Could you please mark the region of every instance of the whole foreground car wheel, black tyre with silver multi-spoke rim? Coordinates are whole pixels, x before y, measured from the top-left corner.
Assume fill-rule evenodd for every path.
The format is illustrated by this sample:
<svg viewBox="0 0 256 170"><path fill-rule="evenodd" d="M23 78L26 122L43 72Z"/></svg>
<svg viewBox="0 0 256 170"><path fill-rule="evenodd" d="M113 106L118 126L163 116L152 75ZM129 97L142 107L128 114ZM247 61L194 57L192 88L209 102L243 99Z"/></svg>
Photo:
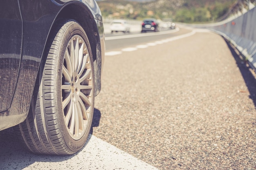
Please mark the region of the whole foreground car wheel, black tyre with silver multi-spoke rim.
<svg viewBox="0 0 256 170"><path fill-rule="evenodd" d="M94 69L88 37L78 22L60 22L38 73L29 113L18 125L34 153L72 155L88 139L94 110Z"/></svg>

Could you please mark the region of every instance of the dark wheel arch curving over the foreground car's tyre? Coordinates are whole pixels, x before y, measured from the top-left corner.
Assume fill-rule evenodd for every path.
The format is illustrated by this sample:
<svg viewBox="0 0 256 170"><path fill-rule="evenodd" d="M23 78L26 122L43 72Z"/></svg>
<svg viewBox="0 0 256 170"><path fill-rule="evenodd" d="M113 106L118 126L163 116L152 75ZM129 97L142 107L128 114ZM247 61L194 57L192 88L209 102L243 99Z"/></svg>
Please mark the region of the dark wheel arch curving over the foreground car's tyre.
<svg viewBox="0 0 256 170"><path fill-rule="evenodd" d="M101 49L101 34L99 34L99 32L103 32L103 27L100 27L102 30L98 30L97 22L95 21L91 11L87 7L81 5L80 2L67 4L63 9L61 9L61 11L57 14L54 23L52 24L49 35L51 35L51 32L55 29L55 24L58 24L60 20L76 20L83 27L88 37L90 47L92 50L94 76L96 80L95 93L97 95L101 90L101 51L105 50ZM49 41L51 41L51 36L48 36L47 38L45 49L47 48L47 44L49 44ZM44 62L45 57L42 58L41 64L44 65ZM40 73L40 71L38 73Z"/></svg>

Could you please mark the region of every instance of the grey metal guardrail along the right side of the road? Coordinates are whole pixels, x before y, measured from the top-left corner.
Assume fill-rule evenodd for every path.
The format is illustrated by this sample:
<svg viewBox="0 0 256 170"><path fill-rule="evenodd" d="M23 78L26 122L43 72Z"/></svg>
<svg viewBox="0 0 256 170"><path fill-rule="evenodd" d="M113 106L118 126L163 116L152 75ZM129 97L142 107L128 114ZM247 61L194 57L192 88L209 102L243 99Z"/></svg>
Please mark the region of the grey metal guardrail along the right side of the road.
<svg viewBox="0 0 256 170"><path fill-rule="evenodd" d="M227 22L222 21L206 28L216 31L229 40L256 71L256 8Z"/></svg>

